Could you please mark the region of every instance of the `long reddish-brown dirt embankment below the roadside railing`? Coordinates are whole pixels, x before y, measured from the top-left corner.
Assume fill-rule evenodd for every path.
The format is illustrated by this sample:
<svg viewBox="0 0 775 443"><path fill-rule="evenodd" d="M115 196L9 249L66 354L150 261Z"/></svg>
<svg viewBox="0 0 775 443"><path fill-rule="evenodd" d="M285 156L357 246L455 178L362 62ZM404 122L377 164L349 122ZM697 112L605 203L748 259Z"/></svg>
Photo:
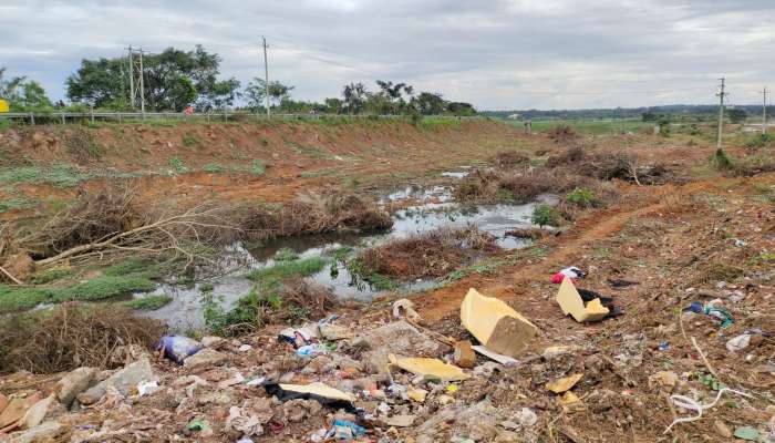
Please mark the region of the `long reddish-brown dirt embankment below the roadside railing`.
<svg viewBox="0 0 775 443"><path fill-rule="evenodd" d="M132 181L149 202L283 202L302 189L388 186L482 162L515 140L486 120L8 130L0 199L29 203L7 208L8 218Z"/></svg>

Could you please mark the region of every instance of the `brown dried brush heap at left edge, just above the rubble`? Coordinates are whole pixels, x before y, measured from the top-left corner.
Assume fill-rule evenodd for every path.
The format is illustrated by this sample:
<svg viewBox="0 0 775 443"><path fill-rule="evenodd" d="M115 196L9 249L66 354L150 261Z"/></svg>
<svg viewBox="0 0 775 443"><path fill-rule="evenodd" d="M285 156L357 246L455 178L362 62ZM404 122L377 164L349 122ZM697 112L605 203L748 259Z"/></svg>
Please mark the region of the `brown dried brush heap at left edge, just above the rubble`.
<svg viewBox="0 0 775 443"><path fill-rule="evenodd" d="M63 303L50 311L0 321L0 371L70 371L83 365L112 369L120 347L152 349L164 327L118 306Z"/></svg>

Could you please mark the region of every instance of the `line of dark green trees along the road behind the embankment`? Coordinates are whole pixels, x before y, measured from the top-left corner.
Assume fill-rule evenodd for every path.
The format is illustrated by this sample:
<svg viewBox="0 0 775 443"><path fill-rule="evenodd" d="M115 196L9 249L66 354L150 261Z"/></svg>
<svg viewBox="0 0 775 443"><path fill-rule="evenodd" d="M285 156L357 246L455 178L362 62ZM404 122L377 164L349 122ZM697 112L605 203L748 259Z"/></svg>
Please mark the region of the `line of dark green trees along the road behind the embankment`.
<svg viewBox="0 0 775 443"><path fill-rule="evenodd" d="M294 100L294 86L278 81L254 79L245 87L235 78L220 79L221 58L202 45L193 51L168 48L144 55L144 99L148 111L180 112L193 106L198 112L246 109L266 112L266 96L273 112L327 114L474 115L469 103L451 102L435 92L417 92L412 85L376 81L370 91L363 83L342 87L341 96L322 102ZM131 111L130 65L126 58L82 60L65 80L70 105L52 103L40 83L27 78L7 78L0 69L0 99L12 112L49 111L55 107L93 106L106 111ZM137 85L135 85L137 86Z"/></svg>

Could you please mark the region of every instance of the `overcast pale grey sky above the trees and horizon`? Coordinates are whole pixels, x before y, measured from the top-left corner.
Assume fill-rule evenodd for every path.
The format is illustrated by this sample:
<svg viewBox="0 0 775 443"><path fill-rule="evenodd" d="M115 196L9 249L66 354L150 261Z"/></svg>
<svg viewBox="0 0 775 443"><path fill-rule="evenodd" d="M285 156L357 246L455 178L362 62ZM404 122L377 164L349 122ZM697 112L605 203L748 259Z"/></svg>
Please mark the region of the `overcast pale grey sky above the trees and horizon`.
<svg viewBox="0 0 775 443"><path fill-rule="evenodd" d="M731 104L775 91L773 0L0 0L0 66L55 100L82 59L206 50L297 100L406 82L479 110Z"/></svg>

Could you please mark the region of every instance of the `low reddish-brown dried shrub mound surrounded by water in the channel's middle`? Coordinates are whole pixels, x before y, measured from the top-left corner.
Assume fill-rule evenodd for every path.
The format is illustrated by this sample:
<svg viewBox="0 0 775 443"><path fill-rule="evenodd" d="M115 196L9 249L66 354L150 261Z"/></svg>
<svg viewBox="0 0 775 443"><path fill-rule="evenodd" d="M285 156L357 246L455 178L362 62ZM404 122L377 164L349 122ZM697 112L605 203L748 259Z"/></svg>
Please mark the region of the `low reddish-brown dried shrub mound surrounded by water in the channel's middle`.
<svg viewBox="0 0 775 443"><path fill-rule="evenodd" d="M397 239L365 250L361 259L373 272L410 280L443 277L480 254L495 250L495 237L468 226Z"/></svg>

